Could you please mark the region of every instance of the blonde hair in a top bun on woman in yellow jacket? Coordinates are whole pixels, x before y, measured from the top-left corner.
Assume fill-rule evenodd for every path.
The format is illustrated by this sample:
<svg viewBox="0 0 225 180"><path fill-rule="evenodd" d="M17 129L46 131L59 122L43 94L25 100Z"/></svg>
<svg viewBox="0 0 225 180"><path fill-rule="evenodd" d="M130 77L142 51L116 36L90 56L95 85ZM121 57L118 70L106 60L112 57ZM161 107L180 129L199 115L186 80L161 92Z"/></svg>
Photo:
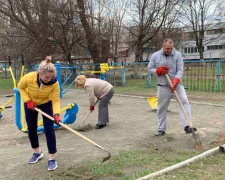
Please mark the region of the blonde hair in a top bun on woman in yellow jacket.
<svg viewBox="0 0 225 180"><path fill-rule="evenodd" d="M51 63L51 60L51 56L46 56L45 60L42 61L38 66L38 73L53 72L54 76L56 77L56 68L54 64Z"/></svg>

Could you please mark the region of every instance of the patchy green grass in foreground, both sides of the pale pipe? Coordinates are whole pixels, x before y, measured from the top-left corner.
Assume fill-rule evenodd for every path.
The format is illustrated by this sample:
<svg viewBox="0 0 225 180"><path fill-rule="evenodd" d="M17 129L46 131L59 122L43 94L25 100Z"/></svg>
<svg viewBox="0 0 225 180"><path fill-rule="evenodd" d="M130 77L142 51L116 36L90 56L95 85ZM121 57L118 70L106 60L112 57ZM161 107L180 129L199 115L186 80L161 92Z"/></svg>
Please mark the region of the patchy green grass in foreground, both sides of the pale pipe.
<svg viewBox="0 0 225 180"><path fill-rule="evenodd" d="M163 152L162 152L163 151ZM99 159L84 162L82 166L58 169L49 179L135 180L139 177L172 166L193 156L196 151L178 150L131 150L113 155L102 163ZM224 179L224 154L216 154L194 164L189 164L157 179Z"/></svg>

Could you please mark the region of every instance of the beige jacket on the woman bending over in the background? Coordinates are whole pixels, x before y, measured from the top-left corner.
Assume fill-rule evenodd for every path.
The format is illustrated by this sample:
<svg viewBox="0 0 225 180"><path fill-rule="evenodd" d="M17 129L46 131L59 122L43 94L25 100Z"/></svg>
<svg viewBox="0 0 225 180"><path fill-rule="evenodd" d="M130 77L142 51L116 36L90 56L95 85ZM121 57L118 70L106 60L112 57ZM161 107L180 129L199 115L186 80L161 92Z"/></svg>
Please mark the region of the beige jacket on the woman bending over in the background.
<svg viewBox="0 0 225 180"><path fill-rule="evenodd" d="M95 105L95 97L102 98L112 87L113 86L107 81L96 78L86 78L84 88L88 91L90 106Z"/></svg>

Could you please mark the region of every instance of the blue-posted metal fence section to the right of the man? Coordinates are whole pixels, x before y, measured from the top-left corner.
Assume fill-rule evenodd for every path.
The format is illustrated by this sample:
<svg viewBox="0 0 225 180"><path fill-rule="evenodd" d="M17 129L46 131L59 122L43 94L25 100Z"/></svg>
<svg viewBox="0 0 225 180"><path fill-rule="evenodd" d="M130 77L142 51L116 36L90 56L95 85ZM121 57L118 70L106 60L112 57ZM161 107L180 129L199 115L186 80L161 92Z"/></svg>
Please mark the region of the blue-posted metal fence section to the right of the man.
<svg viewBox="0 0 225 180"><path fill-rule="evenodd" d="M185 61L182 82L193 91L225 92L225 61Z"/></svg>

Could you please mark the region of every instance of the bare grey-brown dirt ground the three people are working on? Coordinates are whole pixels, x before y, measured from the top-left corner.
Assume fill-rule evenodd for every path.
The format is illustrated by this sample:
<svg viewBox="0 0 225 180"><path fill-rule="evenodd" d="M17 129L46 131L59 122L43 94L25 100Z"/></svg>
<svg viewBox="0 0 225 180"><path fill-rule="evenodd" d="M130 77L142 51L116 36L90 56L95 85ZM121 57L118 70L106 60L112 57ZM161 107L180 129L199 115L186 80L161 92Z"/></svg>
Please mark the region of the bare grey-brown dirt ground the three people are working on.
<svg viewBox="0 0 225 180"><path fill-rule="evenodd" d="M7 101L1 97L1 102L4 100ZM80 127L88 113L87 93L69 90L61 99L61 107L73 102L78 105L79 111L75 123L69 126L76 129ZM12 105L13 108L2 112L3 117L0 119L0 179L45 179L46 173L49 173L45 136L39 133L44 158L37 164L28 164L33 151L27 134L16 127L14 103ZM193 125L198 128L204 146L202 151L208 149L212 142L217 141L218 136L224 131L224 108L224 106L206 105L201 102L192 103L191 101ZM98 114L96 107L85 122L91 124L93 129L80 133L109 150L112 156L124 150L149 147L193 150L194 141L191 135L186 135L183 131L175 101L171 102L169 109L171 112L168 113L167 134L174 138L173 141L154 136L157 130L157 115L156 111L151 110L146 98L118 94L114 95L109 104L109 125L101 130L94 129ZM58 129L56 136L58 168L80 165L87 160L100 161L107 155L68 130Z"/></svg>

